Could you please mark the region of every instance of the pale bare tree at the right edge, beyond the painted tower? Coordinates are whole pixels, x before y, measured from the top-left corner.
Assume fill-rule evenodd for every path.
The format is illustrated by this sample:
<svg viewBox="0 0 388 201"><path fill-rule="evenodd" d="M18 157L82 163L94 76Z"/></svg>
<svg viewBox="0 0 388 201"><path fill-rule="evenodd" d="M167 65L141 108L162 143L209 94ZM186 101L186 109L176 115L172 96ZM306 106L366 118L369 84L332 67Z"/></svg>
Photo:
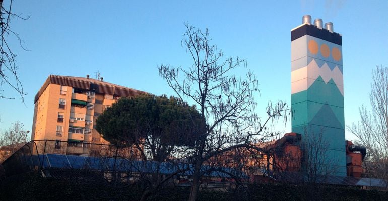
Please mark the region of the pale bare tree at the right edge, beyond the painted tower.
<svg viewBox="0 0 388 201"><path fill-rule="evenodd" d="M369 94L372 110L359 108L361 120L352 123L348 130L357 136L368 150L369 174L372 177L388 179L388 68L372 70Z"/></svg>

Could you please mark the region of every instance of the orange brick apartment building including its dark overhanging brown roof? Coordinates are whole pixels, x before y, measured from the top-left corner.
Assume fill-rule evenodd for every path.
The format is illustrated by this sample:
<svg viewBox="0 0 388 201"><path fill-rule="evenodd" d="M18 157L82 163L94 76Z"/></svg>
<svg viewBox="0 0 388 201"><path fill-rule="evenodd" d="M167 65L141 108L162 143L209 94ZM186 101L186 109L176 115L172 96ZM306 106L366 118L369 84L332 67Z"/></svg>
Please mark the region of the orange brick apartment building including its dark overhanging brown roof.
<svg viewBox="0 0 388 201"><path fill-rule="evenodd" d="M146 92L86 77L50 75L35 95L31 140L55 140L54 149L82 154L88 143L108 144L96 119L120 97ZM67 143L64 143L66 141ZM79 147L69 153L67 147ZM63 151L64 150L64 151Z"/></svg>

